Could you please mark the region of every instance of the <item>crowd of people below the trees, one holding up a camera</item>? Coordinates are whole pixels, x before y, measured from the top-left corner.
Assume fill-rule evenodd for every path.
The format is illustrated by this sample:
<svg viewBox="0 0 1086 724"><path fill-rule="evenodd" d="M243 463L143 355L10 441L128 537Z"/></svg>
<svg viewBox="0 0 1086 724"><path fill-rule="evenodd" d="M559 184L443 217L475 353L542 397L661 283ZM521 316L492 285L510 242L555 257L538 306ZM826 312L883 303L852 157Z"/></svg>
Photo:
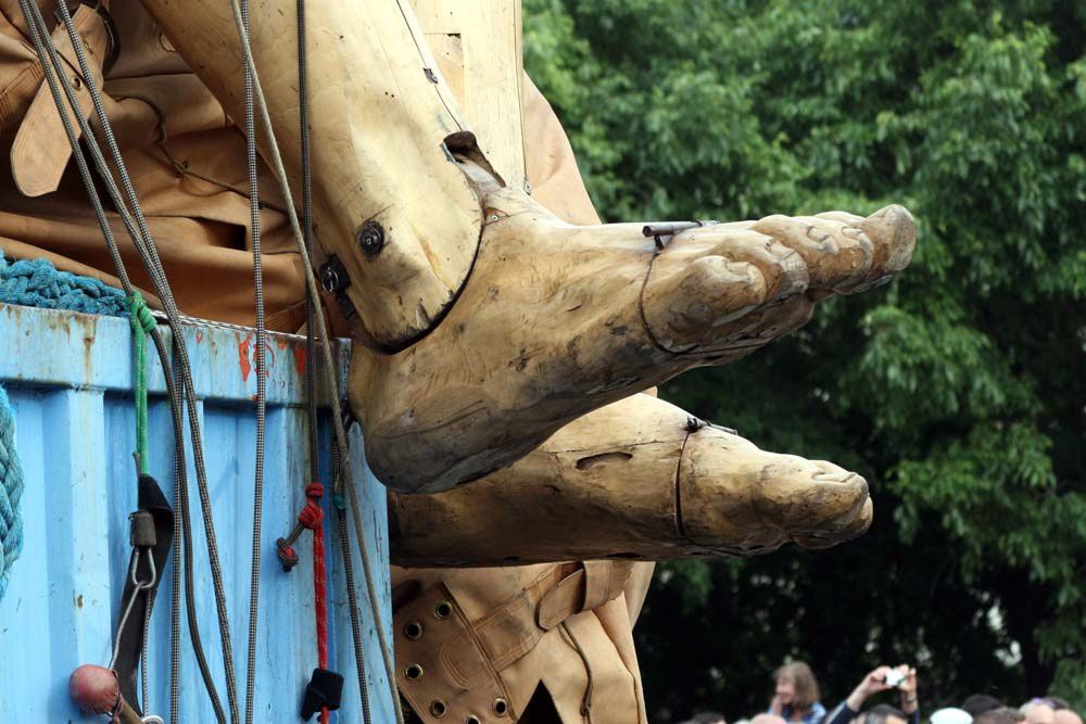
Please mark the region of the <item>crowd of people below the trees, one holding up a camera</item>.
<svg viewBox="0 0 1086 724"><path fill-rule="evenodd" d="M822 706L815 672L803 661L794 661L773 675L773 699L765 712L734 724L920 724L917 670L909 664L881 665L860 679L832 710ZM867 707L882 691L894 691L896 701ZM987 694L974 694L959 707L944 707L931 713L930 724L1083 724L1066 701L1056 697L1035 698L1020 707ZM681 724L728 724L723 714L702 712Z"/></svg>

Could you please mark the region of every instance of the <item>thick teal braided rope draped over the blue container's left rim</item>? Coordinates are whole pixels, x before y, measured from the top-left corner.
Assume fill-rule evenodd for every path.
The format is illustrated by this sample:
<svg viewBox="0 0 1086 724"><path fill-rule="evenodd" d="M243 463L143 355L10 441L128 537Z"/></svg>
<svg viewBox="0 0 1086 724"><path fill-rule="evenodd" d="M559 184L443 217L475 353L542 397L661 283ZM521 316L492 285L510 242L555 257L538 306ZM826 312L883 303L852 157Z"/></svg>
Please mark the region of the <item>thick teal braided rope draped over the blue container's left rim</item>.
<svg viewBox="0 0 1086 724"><path fill-rule="evenodd" d="M124 317L131 315L132 325L140 331L147 329L147 319L154 326L154 318L147 306L128 305L119 289L67 271L58 271L46 259L18 259L9 262L0 250L0 302L21 304L43 309L67 309L85 314ZM146 409L147 397L144 393ZM146 419L146 418L144 418ZM143 427L146 458L147 427ZM23 497L23 468L15 450L15 414L8 394L0 386L0 599L3 598L11 575L11 567L23 551L23 518L20 500Z"/></svg>

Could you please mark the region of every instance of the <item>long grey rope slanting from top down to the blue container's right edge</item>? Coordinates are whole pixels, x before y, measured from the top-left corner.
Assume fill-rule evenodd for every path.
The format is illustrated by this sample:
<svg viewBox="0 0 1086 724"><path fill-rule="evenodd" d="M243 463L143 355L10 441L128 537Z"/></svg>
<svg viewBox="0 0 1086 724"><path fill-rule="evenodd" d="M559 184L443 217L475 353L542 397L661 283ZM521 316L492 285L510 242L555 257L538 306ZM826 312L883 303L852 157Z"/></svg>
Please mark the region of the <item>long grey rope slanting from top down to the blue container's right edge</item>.
<svg viewBox="0 0 1086 724"><path fill-rule="evenodd" d="M244 23L241 17L241 9L238 7L237 0L232 0L230 3L233 8L233 23L238 28L238 35L241 37L241 49L244 56L245 65L250 67L250 72L253 74L253 88L254 94L256 97L256 107L261 115L261 125L264 128L265 136L268 141L268 150L272 153L272 166L275 170L276 177L279 181L279 188L281 189L283 199L290 200L293 196L290 193L290 183L287 180L287 169L282 163L282 155L279 153L279 144L275 140L275 130L272 127L272 118L268 115L267 103L264 98L264 91L261 88L260 74L256 72L256 65L253 62L252 48L249 42L249 34L245 33ZM291 203L287 204L287 216L290 219L290 227L294 233L294 242L298 246L298 253L302 257L302 268L305 270L305 289L306 293L310 295L313 305L319 308L320 297L317 292L317 280L313 276L313 263L310 258L310 253L305 249L305 241L302 236L301 227L298 223L298 214L294 212L294 206ZM325 325L324 315L317 314L314 316L317 322L317 336L320 339L320 352L323 361L325 363L325 371L328 374L328 385L329 392L331 393L332 399L339 401L339 381L336 379L336 370L338 367L334 365L331 352L331 342L328 336L328 329ZM346 432L343 429L343 420L340 419L339 415L332 415L332 429L336 433L336 444L340 446L340 449L348 449L346 445ZM369 596L369 602L374 610L374 623L377 630L377 638L381 648L381 658L384 661L386 674L389 679L389 689L392 695L392 706L395 710L397 724L403 724L403 709L400 706L400 691L396 688L396 673L395 666L392 662L392 648L389 646L388 636L384 634L384 626L381 621L381 609L380 601L377 596L377 584L374 577L372 561L369 558L369 551L366 549L365 536L363 535L362 525L362 513L361 507L358 505L358 495L354 486L354 477L352 474L350 461L343 466L343 478L344 485L348 488L348 497L351 503L351 516L354 519L354 524L357 534L358 550L362 555L362 564L365 573L366 580L366 593Z"/></svg>

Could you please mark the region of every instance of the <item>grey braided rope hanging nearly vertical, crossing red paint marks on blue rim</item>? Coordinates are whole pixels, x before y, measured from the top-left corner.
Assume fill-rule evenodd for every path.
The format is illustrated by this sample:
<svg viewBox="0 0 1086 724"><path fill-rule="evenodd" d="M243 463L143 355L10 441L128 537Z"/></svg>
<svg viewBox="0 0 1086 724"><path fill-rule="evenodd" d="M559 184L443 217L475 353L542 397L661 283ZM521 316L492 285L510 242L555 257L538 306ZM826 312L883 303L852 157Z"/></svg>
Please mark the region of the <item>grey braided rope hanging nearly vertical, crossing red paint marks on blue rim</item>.
<svg viewBox="0 0 1086 724"><path fill-rule="evenodd" d="M249 2L241 0L242 21L249 30ZM264 270L261 261L261 200L257 188L256 123L253 118L253 76L245 66L245 165L249 172L249 212L253 246L253 291L256 304L256 463L253 477L253 555L249 583L249 646L245 656L245 724L253 722L256 704L256 633L261 598L261 522L264 513L264 437L267 420L267 331L264 312ZM316 479L314 479L316 480Z"/></svg>

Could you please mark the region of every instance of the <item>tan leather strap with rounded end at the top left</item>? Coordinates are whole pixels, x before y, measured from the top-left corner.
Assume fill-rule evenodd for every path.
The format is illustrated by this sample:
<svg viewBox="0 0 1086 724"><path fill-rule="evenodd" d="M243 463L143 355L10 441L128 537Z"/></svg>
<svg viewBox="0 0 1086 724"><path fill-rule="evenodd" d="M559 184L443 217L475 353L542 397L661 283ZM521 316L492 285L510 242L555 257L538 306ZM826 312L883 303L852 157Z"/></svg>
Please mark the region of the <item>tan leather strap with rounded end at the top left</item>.
<svg viewBox="0 0 1086 724"><path fill-rule="evenodd" d="M96 10L83 4L76 9L72 22L86 46L87 62L94 74L94 82L101 88L102 64L110 37L105 22ZM67 66L68 78L73 81L79 101L78 112L85 118L90 117L93 105L87 91L87 79L78 71L79 62L63 24L53 28L52 39ZM75 131L77 136L81 135L78 127ZM55 191L71 157L72 147L61 124L52 92L49 84L42 80L11 148L11 170L15 186L27 196L40 196Z"/></svg>

